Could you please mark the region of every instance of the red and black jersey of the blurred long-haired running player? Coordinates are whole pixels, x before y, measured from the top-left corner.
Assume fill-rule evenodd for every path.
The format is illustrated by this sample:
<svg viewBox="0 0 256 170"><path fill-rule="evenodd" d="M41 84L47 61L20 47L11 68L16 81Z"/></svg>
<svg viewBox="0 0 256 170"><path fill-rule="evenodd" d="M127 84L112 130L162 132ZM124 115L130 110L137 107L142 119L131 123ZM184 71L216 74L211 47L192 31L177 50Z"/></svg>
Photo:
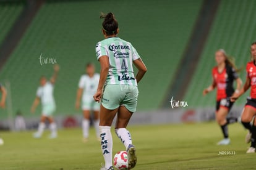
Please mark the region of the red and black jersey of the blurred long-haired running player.
<svg viewBox="0 0 256 170"><path fill-rule="evenodd" d="M234 93L233 82L238 78L238 75L233 67L226 65L224 70L219 73L218 67L214 67L212 70L213 81L217 86L217 101L231 97Z"/></svg>

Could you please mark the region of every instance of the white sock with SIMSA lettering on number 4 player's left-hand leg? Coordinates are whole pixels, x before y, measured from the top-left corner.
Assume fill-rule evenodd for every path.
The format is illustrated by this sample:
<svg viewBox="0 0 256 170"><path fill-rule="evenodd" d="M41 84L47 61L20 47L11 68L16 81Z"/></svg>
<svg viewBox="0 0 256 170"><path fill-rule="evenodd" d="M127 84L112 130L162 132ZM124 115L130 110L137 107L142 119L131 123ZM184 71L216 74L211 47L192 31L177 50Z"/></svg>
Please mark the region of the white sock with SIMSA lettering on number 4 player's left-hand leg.
<svg viewBox="0 0 256 170"><path fill-rule="evenodd" d="M101 150L105 160L105 168L109 168L112 165L112 148L113 141L111 135L111 126L99 126L100 129L100 140Z"/></svg>

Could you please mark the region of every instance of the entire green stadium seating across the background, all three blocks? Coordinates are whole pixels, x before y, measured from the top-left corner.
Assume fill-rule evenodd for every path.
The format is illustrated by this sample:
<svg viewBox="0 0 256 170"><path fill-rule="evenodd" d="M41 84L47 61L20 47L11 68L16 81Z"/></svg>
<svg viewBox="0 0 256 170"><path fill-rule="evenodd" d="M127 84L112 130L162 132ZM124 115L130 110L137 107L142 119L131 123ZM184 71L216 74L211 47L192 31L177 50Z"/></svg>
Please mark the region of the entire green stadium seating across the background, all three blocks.
<svg viewBox="0 0 256 170"><path fill-rule="evenodd" d="M87 62L95 63L97 71L100 69L95 57L95 44L103 39L99 15L109 11L119 21L119 37L132 42L148 67L139 84L138 110L158 110L170 83L175 81L174 73L202 3L202 0L45 1L0 72L0 81L11 84L12 111L21 110L30 116L40 76L51 77L53 65L41 65L41 55L48 62L50 58L56 59L61 66L54 92L56 114L80 113L74 108L77 84ZM192 81L182 100L187 101L189 108L215 106L216 91L202 97L202 90L211 84L217 49L226 50L238 68L245 68L256 33L254 6L256 2L252 0L220 1L195 74L187 75L192 76ZM23 1L0 2L0 44L23 9ZM245 69L239 74L245 81ZM245 98L246 95L236 105L244 105ZM7 110L0 113L0 118L7 117Z"/></svg>

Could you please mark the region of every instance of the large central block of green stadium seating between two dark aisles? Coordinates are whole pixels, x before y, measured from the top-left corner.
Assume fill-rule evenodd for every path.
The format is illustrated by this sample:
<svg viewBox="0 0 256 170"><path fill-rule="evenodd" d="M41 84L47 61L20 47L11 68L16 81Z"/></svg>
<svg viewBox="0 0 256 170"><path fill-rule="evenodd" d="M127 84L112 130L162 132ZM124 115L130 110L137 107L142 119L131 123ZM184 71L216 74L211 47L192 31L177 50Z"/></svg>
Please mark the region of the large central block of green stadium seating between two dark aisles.
<svg viewBox="0 0 256 170"><path fill-rule="evenodd" d="M132 42L148 67L139 84L138 110L158 109L201 4L201 0L46 1L0 73L1 81L11 83L14 112L21 110L25 116L30 115L40 76L49 78L53 72L53 65L40 65L41 54L56 59L61 66L55 89L57 114L79 112L74 103L85 63L95 63L99 71L95 44L103 39L101 11L114 12L119 36Z"/></svg>

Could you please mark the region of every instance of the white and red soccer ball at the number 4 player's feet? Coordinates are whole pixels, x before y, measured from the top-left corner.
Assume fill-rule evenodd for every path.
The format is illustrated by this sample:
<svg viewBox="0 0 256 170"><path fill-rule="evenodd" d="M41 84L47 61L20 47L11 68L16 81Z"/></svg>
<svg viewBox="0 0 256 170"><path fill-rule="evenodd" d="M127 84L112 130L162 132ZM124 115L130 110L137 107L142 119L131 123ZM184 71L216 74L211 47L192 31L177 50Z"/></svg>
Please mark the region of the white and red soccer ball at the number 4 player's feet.
<svg viewBox="0 0 256 170"><path fill-rule="evenodd" d="M114 167L120 170L128 169L128 157L126 151L120 151L114 155Z"/></svg>

